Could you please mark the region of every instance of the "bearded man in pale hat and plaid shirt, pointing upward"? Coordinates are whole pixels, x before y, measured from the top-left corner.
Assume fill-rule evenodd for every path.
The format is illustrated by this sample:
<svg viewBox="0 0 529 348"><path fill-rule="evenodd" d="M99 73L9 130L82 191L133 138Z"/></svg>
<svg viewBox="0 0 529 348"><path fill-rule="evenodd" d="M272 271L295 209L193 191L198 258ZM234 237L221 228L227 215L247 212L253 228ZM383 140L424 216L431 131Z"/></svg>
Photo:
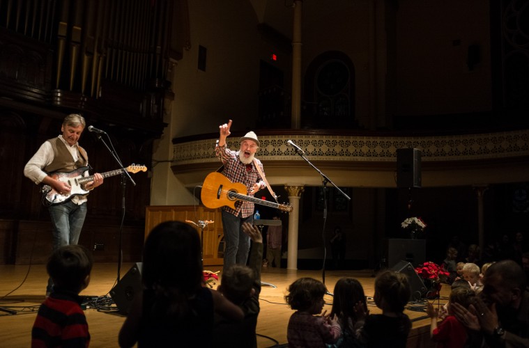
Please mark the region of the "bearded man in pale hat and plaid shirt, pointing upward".
<svg viewBox="0 0 529 348"><path fill-rule="evenodd" d="M256 165L263 171L263 164L254 155L259 148L259 140L254 132L248 132L240 138L240 149L232 151L227 148L226 138L231 134L231 120L220 125L220 136L215 155L224 164L224 174L231 182L240 182L247 187L247 196L254 196L257 191L266 188ZM242 193L242 192L240 192ZM250 251L250 237L245 235L243 223L253 223L254 203L238 200L236 209L222 207L222 228L224 228L224 269L231 264L246 264Z"/></svg>

